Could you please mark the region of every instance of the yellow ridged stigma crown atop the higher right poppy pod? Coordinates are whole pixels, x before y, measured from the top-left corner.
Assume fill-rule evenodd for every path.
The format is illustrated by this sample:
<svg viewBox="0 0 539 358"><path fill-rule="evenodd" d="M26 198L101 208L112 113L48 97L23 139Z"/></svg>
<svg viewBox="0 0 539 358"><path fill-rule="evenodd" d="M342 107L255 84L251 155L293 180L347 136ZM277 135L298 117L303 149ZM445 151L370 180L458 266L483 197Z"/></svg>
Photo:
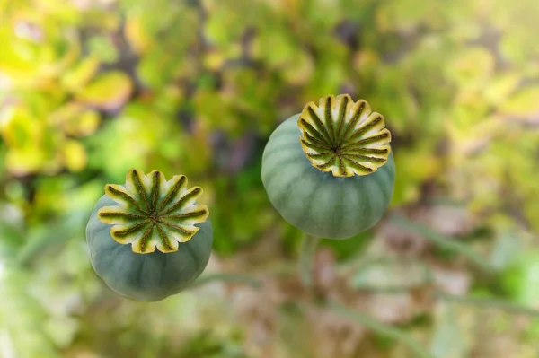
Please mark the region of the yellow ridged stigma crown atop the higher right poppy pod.
<svg viewBox="0 0 539 358"><path fill-rule="evenodd" d="M305 156L314 168L335 177L368 175L387 162L391 133L384 116L365 100L348 94L325 96L310 102L297 120Z"/></svg>

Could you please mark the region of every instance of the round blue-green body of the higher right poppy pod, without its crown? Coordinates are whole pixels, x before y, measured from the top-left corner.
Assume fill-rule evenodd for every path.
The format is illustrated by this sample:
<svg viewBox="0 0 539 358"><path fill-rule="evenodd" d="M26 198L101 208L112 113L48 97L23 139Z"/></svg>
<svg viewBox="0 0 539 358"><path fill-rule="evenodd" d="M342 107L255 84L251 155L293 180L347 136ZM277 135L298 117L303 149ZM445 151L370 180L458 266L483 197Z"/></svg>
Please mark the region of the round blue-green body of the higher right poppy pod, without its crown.
<svg viewBox="0 0 539 358"><path fill-rule="evenodd" d="M314 168L300 144L299 114L270 136L261 177L271 204L290 224L327 239L348 239L376 224L393 197L393 153L366 176L335 177Z"/></svg>

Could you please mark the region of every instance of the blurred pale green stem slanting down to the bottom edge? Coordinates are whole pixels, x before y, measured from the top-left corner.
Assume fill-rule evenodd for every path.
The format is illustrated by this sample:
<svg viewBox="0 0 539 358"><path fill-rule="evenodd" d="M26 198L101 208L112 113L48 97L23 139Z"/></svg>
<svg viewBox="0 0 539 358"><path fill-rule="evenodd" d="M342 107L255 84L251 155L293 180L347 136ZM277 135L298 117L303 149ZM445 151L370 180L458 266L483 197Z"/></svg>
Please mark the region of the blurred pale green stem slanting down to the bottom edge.
<svg viewBox="0 0 539 358"><path fill-rule="evenodd" d="M364 327L376 332L380 336L386 336L394 339L397 342L407 345L420 358L432 358L432 355L423 348L423 346L410 336L408 333L399 328L385 325L384 323L367 316L365 313L356 310L349 310L340 304L332 303L329 308L342 317L354 319Z"/></svg>

